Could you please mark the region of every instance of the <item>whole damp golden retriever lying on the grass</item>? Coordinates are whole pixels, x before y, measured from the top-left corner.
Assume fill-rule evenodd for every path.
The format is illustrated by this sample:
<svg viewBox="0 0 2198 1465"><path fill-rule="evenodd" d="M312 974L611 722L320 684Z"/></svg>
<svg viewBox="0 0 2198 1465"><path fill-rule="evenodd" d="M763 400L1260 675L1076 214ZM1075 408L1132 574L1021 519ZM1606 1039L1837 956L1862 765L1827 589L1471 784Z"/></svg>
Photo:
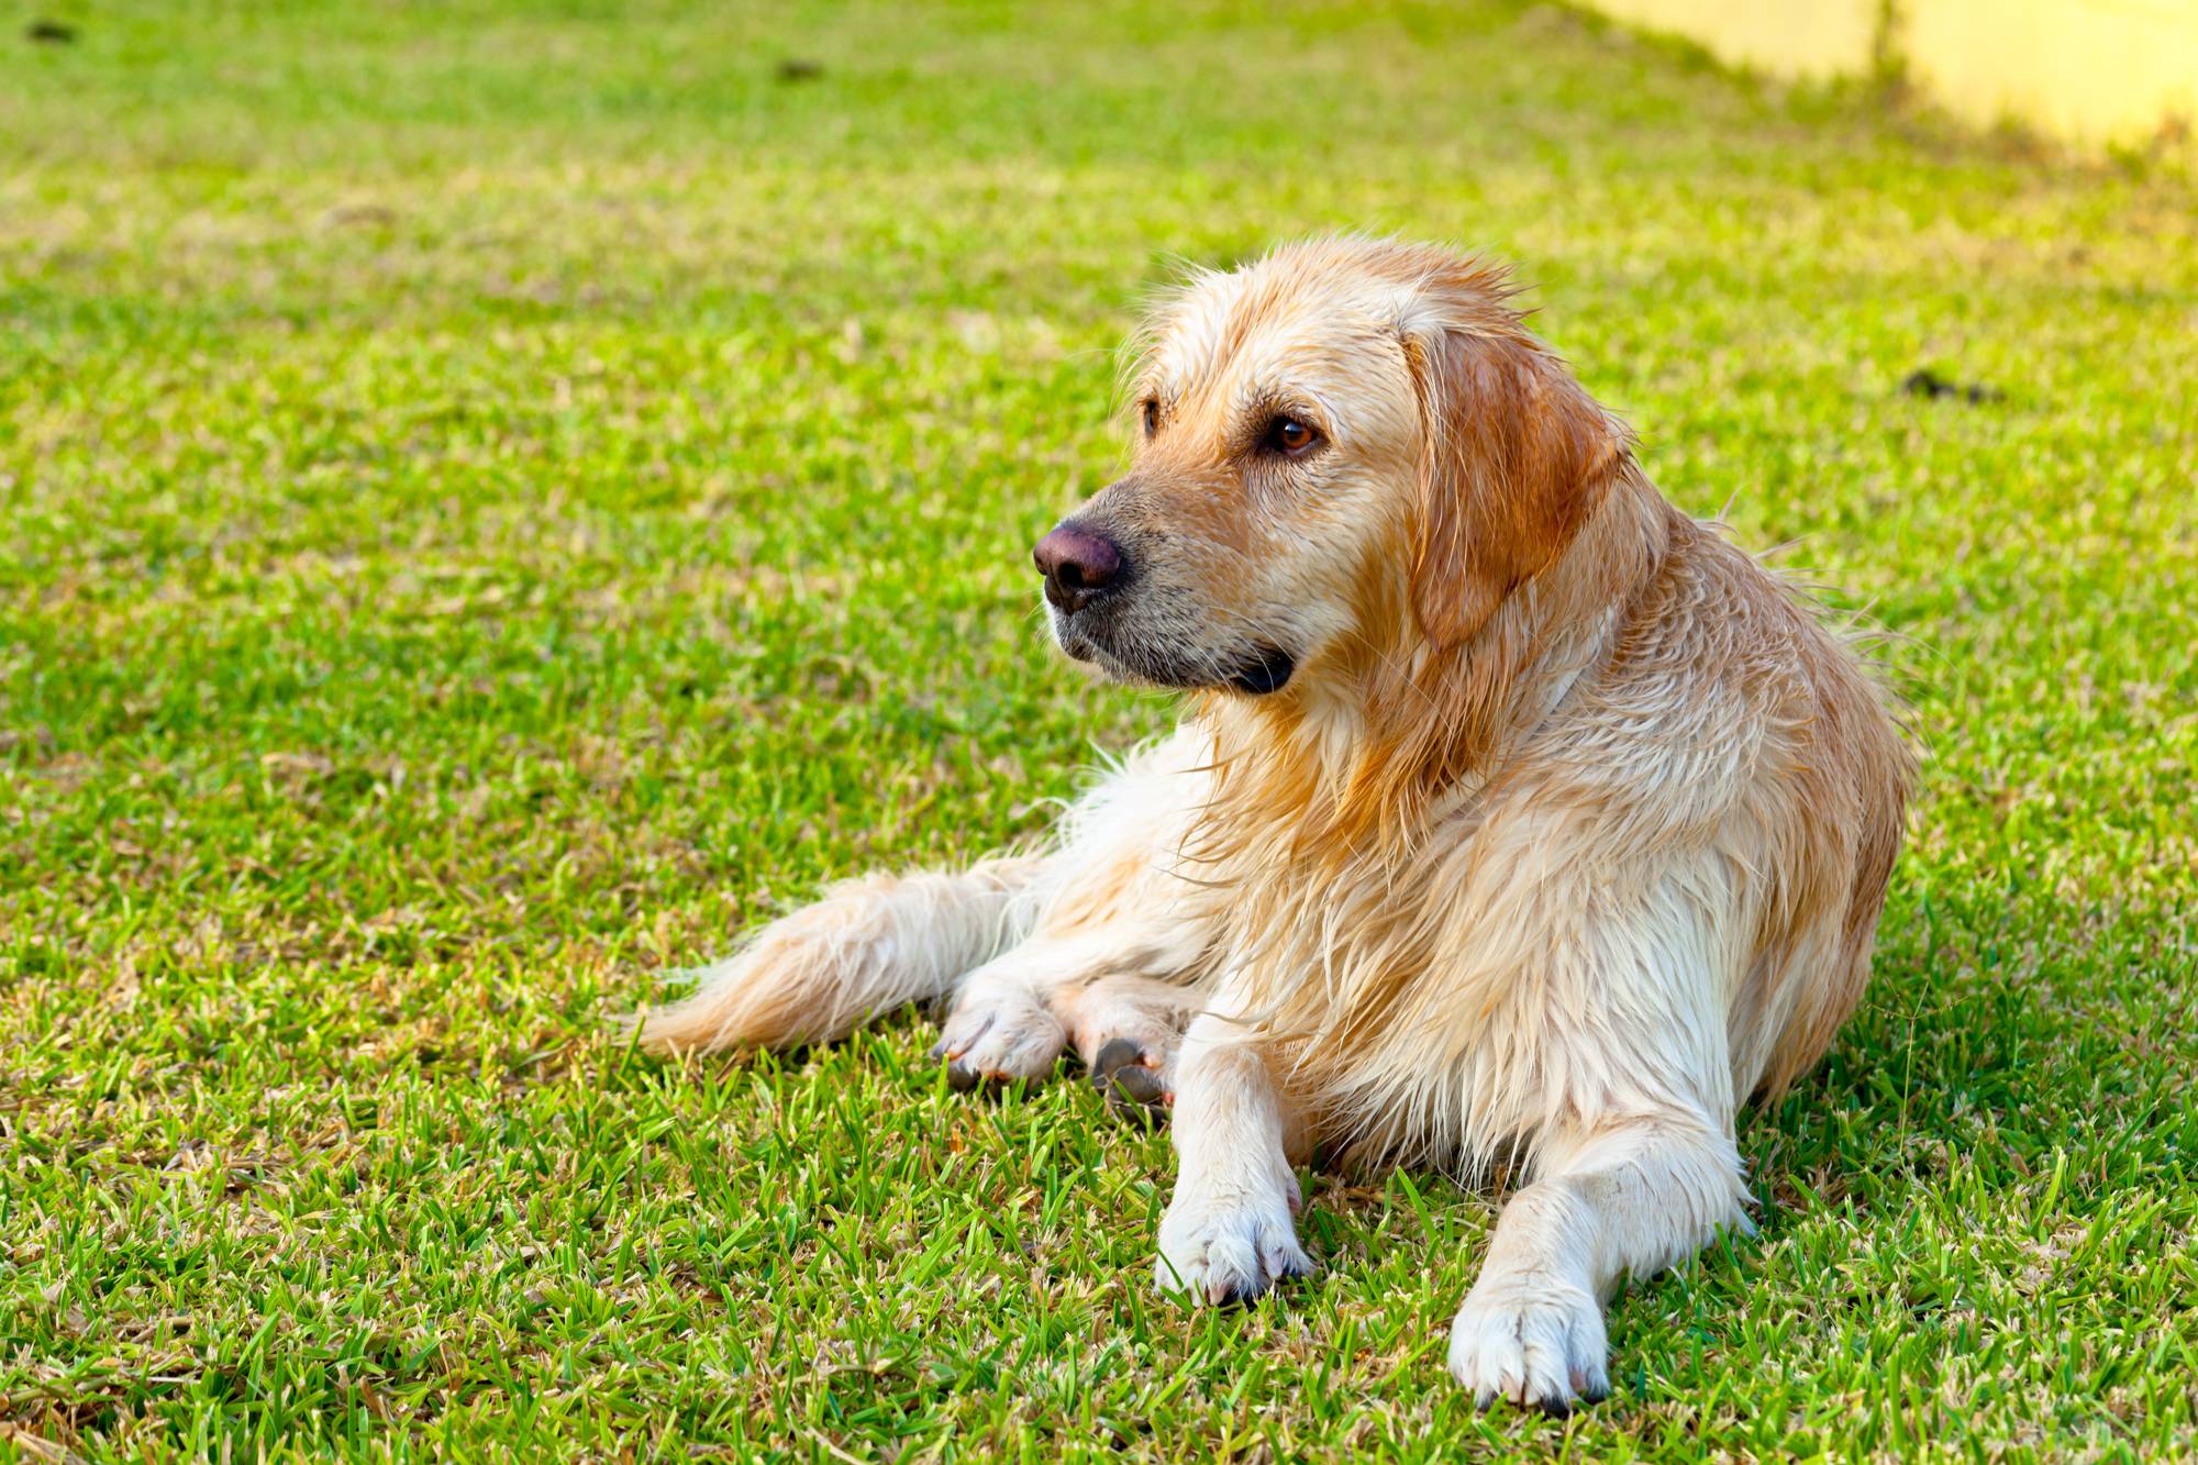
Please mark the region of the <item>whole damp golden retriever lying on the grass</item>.
<svg viewBox="0 0 2198 1465"><path fill-rule="evenodd" d="M1734 1115L1862 994L1912 781L1811 603L1681 515L1501 268L1391 240L1194 275L1130 473L1035 552L1059 649L1180 689L1037 851L870 875L642 1018L824 1043L950 999L954 1087L1073 1049L1161 1102L1156 1278L1312 1269L1297 1166L1497 1170L1481 1406L1609 1390L1602 1304L1752 1230Z"/></svg>

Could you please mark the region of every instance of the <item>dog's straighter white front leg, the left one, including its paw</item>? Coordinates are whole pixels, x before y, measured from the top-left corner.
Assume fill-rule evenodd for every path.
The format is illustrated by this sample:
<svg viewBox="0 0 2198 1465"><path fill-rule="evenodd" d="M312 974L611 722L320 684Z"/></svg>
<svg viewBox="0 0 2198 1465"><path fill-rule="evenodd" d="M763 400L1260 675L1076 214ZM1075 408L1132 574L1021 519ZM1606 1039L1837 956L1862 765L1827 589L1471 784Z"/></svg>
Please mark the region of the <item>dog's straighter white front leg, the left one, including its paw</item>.
<svg viewBox="0 0 2198 1465"><path fill-rule="evenodd" d="M1303 1122L1248 1029L1207 1012L1176 1056L1176 1194L1161 1219L1163 1291L1248 1302L1312 1271L1297 1245Z"/></svg>

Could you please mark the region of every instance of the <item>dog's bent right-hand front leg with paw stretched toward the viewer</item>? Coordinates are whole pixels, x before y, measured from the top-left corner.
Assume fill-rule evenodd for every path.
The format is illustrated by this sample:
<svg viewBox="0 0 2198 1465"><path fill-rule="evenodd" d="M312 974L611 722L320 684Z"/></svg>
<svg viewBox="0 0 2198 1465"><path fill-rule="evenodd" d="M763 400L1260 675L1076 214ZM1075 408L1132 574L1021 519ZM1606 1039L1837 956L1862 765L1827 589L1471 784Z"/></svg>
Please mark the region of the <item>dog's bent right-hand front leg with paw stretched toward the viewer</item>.
<svg viewBox="0 0 2198 1465"><path fill-rule="evenodd" d="M1451 1324L1451 1373L1488 1406L1563 1414L1609 1392L1602 1300L1745 1227L1730 1126L1695 1111L1613 1117L1545 1137L1539 1179L1497 1216Z"/></svg>

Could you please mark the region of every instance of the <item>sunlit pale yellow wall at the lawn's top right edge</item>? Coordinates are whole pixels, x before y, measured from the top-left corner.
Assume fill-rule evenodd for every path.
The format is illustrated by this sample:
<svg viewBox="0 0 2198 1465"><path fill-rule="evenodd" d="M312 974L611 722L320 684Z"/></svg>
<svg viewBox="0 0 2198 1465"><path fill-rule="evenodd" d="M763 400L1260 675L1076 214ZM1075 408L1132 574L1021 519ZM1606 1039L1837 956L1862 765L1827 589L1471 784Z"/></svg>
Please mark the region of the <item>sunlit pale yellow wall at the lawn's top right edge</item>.
<svg viewBox="0 0 2198 1465"><path fill-rule="evenodd" d="M1780 77L1908 66L1954 117L2013 119L2077 143L2141 143L2198 123L2198 0L1591 0L1721 62Z"/></svg>

